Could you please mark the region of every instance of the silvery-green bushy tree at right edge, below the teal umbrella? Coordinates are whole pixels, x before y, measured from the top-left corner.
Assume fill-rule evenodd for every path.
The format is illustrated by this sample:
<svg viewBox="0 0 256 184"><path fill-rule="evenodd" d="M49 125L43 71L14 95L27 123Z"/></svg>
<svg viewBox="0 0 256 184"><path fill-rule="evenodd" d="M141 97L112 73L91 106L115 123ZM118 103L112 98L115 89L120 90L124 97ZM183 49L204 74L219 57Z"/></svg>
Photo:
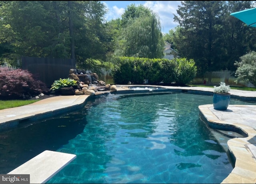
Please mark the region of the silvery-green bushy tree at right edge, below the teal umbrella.
<svg viewBox="0 0 256 184"><path fill-rule="evenodd" d="M240 61L235 61L237 67L235 82L251 82L256 86L256 52L252 51L240 57Z"/></svg>

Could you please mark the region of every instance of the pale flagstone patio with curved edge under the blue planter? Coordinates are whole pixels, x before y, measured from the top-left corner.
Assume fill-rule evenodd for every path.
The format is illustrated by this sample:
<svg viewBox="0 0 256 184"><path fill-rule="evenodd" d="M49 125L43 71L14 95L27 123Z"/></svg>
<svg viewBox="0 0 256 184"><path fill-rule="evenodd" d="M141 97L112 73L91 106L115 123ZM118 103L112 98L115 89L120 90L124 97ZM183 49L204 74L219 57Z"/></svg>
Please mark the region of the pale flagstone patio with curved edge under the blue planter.
<svg viewBox="0 0 256 184"><path fill-rule="evenodd" d="M206 104L198 106L200 112L204 115L208 123L232 126L234 128L243 130L248 136L244 138L232 138L228 140L228 152L233 157L235 164L232 172L226 177L222 184L248 184L256 183L256 130L252 126L256 126L251 122L252 126L249 126L248 122L243 122L244 119L250 121L255 120L256 114L243 113L243 110L253 108L256 110L256 105L229 105L227 110L218 111L213 109L213 104ZM244 108L244 109L243 109ZM238 109L242 112L238 112ZM231 112L231 114L230 114ZM218 116L219 115L219 116ZM240 118L237 118L240 116ZM244 115L244 116L243 116ZM232 117L233 116L233 117ZM224 120L229 118L231 120ZM233 119L233 121L232 121Z"/></svg>

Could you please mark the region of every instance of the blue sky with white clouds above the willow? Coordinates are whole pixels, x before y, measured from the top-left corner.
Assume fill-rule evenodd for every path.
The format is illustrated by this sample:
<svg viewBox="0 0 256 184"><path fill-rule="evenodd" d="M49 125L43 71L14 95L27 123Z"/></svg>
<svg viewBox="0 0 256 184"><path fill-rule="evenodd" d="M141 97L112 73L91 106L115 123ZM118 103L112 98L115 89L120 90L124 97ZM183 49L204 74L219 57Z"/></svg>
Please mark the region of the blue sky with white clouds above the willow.
<svg viewBox="0 0 256 184"><path fill-rule="evenodd" d="M124 13L126 6L130 4L142 4L150 8L153 12L157 13L161 26L162 32L168 33L169 30L178 26L177 22L174 22L173 14L177 14L178 5L181 5L181 1L101 1L106 5L108 13L105 15L106 20L121 18Z"/></svg>

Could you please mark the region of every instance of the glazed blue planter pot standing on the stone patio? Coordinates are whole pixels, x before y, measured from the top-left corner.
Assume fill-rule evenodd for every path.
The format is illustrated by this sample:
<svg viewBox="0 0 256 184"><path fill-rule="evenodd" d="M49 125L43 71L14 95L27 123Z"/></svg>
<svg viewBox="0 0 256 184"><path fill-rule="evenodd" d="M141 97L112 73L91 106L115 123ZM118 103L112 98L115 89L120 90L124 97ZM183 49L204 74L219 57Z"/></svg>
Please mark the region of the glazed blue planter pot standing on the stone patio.
<svg viewBox="0 0 256 184"><path fill-rule="evenodd" d="M214 93L213 94L213 108L215 110L226 110L230 102L230 93Z"/></svg>

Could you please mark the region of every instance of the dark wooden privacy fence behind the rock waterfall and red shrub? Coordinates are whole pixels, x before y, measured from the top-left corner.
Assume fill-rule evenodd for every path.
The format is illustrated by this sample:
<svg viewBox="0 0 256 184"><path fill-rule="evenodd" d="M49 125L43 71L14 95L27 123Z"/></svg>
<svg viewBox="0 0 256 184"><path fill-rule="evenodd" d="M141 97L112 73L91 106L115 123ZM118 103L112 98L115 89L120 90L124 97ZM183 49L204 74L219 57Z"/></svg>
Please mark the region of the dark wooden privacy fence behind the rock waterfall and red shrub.
<svg viewBox="0 0 256 184"><path fill-rule="evenodd" d="M21 60L22 69L34 74L47 87L51 87L54 80L67 78L69 70L76 68L76 63L72 59L22 57Z"/></svg>

